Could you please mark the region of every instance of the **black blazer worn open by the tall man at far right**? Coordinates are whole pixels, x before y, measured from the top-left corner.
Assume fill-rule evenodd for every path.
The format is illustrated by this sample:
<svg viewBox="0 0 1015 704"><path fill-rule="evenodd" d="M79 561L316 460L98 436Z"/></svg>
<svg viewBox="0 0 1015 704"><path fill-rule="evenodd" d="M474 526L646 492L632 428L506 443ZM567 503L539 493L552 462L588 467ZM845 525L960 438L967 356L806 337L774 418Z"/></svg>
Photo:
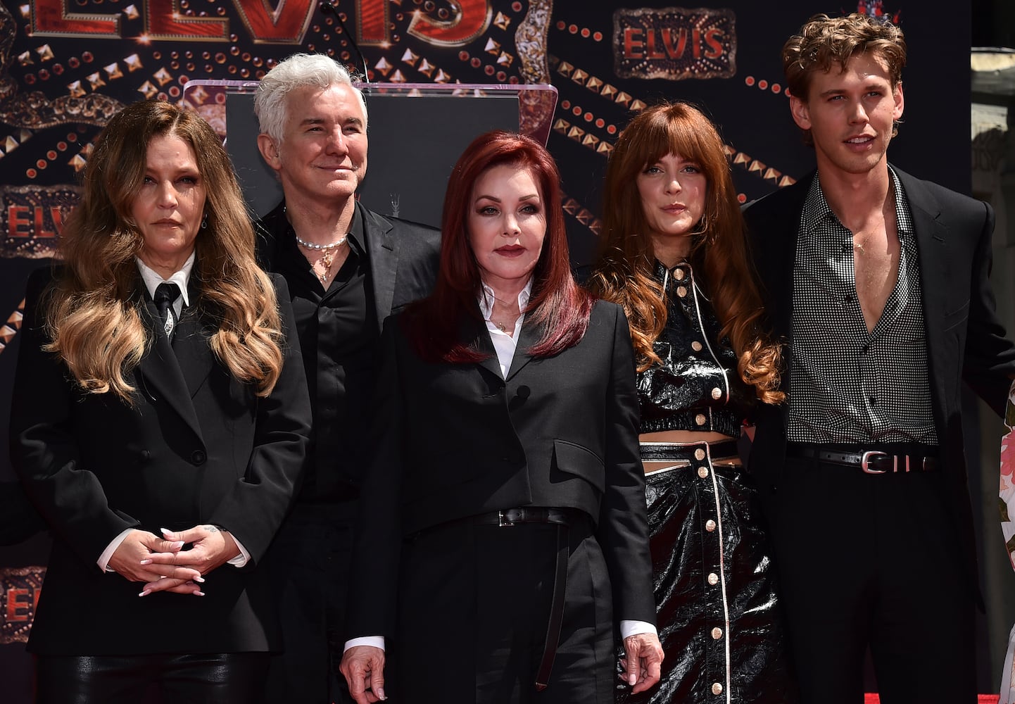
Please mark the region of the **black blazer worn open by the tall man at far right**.
<svg viewBox="0 0 1015 704"><path fill-rule="evenodd" d="M909 202L920 257L920 283L927 332L934 425L945 471L951 477L949 509L965 542L975 579L972 514L962 441L961 382L968 383L998 413L1015 374L1015 345L1005 338L991 292L994 212L986 203L895 169ZM815 175L751 203L744 211L765 310L784 348L793 358L793 262L800 216ZM783 390L791 396L790 375ZM763 493L777 486L786 458L786 404L759 404L751 471Z"/></svg>

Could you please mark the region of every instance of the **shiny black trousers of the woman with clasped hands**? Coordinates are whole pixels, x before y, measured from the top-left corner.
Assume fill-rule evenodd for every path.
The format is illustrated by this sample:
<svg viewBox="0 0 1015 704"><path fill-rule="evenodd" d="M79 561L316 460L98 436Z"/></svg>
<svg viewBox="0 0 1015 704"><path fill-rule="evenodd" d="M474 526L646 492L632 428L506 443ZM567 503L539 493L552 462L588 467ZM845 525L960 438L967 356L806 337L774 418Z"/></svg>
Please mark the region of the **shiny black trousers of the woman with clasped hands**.
<svg viewBox="0 0 1015 704"><path fill-rule="evenodd" d="M259 704L268 657L37 655L36 704Z"/></svg>

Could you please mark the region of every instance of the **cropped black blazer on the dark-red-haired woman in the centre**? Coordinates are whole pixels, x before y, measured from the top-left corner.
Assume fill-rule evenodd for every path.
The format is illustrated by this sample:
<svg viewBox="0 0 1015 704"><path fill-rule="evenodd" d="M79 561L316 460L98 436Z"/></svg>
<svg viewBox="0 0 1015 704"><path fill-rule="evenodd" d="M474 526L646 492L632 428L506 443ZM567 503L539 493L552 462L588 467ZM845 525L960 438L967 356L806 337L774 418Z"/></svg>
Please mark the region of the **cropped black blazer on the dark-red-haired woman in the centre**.
<svg viewBox="0 0 1015 704"><path fill-rule="evenodd" d="M542 331L530 320L506 379L481 319L463 325L463 339L489 357L461 365L423 362L398 318L386 322L375 418L387 422L362 490L353 567L370 579L353 580L347 637L392 633L403 535L528 505L588 513L616 620L655 623L627 321L597 303L581 342L533 359L526 350Z"/></svg>

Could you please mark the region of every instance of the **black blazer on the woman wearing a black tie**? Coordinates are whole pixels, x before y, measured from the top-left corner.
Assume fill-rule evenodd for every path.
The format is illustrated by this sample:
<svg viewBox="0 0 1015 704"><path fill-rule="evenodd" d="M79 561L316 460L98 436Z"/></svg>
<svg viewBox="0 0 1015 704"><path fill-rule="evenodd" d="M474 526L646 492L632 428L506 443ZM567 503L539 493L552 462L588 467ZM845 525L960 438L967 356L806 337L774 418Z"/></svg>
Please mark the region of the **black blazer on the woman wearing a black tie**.
<svg viewBox="0 0 1015 704"><path fill-rule="evenodd" d="M298 342L283 344L271 395L258 398L185 313L173 345L156 334L154 305L138 305L154 341L131 375L134 406L88 394L48 341L39 301L50 269L35 272L21 327L11 409L11 459L54 532L28 649L53 654L235 652L277 648L266 575L257 569L289 506L306 452L310 403ZM285 282L273 276L284 328ZM140 277L138 291L144 291ZM192 299L193 303L194 299ZM189 309L192 310L192 309ZM95 561L127 528L158 534L212 523L250 552L242 569L207 575L206 596L156 592L99 571Z"/></svg>

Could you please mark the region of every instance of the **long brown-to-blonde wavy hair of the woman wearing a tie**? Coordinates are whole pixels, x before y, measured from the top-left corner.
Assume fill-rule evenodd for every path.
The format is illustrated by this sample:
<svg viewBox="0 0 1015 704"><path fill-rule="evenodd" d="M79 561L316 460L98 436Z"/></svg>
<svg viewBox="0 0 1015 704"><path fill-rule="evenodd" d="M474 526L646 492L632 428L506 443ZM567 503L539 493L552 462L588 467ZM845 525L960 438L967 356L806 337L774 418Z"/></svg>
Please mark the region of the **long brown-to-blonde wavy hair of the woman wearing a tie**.
<svg viewBox="0 0 1015 704"><path fill-rule="evenodd" d="M43 304L52 340L46 349L85 391L133 403L130 372L151 340L135 261L144 239L131 207L148 144L165 135L190 144L205 184L207 227L195 240L191 279L199 315L216 327L209 343L236 379L266 396L282 368L281 321L271 279L254 258L254 230L232 166L208 123L161 101L128 106L98 135L60 243L64 266Z"/></svg>

